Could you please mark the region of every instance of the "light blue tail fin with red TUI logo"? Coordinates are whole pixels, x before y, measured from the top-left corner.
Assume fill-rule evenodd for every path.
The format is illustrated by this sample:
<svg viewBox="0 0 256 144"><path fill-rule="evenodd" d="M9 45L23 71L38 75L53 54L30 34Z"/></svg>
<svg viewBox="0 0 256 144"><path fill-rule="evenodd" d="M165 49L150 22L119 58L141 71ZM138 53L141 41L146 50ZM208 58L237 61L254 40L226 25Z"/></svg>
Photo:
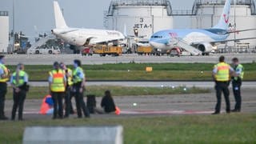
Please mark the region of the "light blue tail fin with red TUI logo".
<svg viewBox="0 0 256 144"><path fill-rule="evenodd" d="M228 30L230 22L230 5L231 0L226 0L221 18L218 21L218 24L213 27L214 29Z"/></svg>

